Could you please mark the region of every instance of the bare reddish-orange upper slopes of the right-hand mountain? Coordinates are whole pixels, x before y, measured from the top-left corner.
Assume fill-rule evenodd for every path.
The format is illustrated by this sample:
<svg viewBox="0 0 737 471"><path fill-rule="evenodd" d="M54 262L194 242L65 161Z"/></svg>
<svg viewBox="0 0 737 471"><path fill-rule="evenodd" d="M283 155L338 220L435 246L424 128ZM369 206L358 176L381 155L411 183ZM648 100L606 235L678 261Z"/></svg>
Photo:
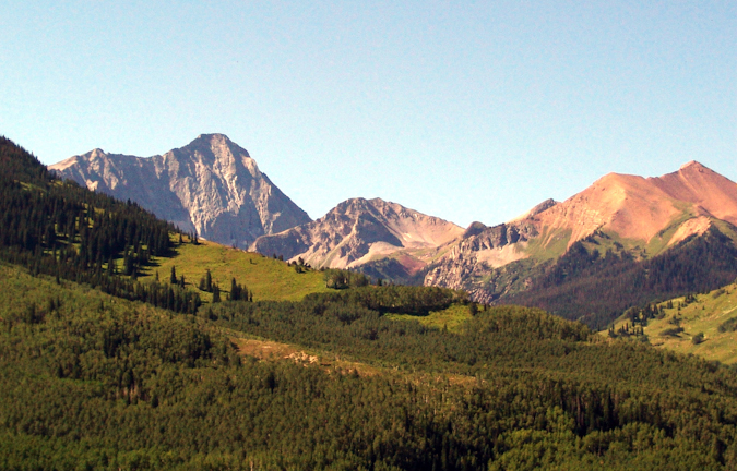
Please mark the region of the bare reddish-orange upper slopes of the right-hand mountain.
<svg viewBox="0 0 737 471"><path fill-rule="evenodd" d="M645 243L665 238L668 246L703 233L712 219L737 224L737 184L691 161L657 178L609 173L537 221L551 233L570 231L568 246L597 230ZM669 228L676 232L666 237Z"/></svg>

